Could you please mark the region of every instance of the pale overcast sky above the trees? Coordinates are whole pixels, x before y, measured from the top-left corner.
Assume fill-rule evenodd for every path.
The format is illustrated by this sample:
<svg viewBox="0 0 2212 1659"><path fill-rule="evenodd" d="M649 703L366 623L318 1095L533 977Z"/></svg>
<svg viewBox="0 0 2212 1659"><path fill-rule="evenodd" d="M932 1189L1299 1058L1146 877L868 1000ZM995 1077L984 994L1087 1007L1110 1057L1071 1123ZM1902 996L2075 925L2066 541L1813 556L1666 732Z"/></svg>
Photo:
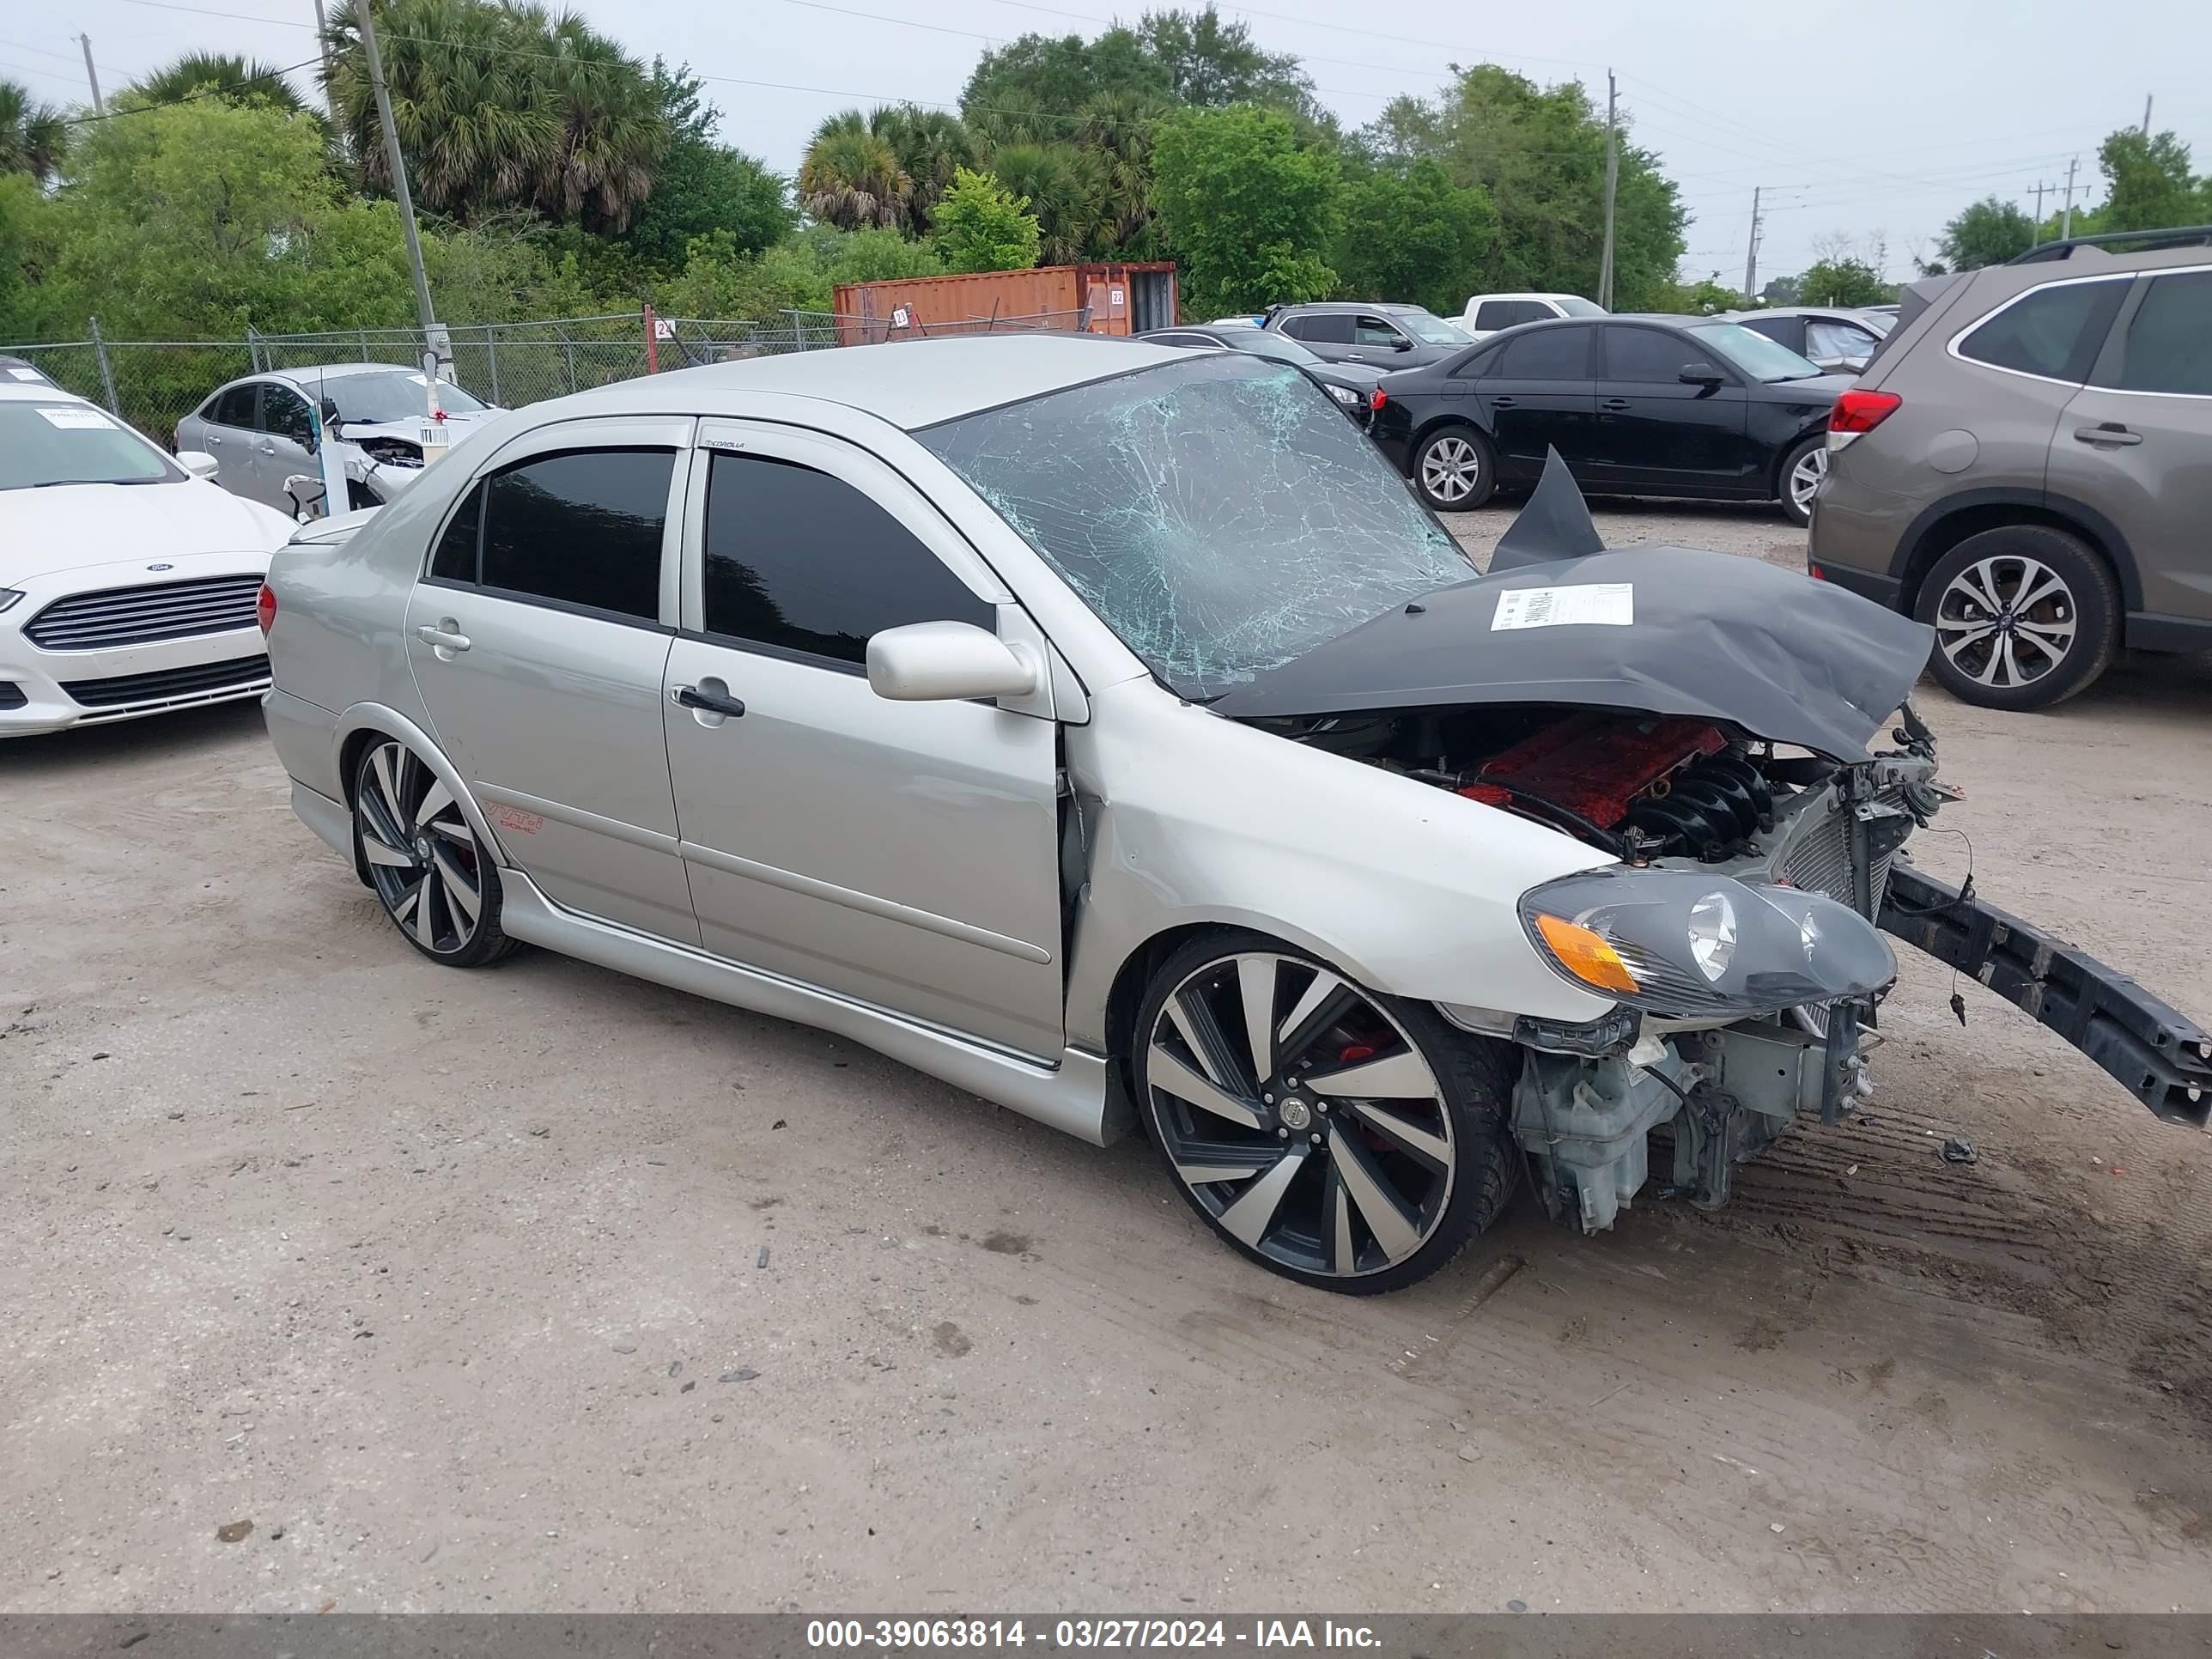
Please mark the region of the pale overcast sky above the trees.
<svg viewBox="0 0 2212 1659"><path fill-rule="evenodd" d="M1144 7L1110 0L586 0L593 27L641 58L688 62L723 111L723 137L799 166L807 135L849 104L951 106L978 53L1026 31L1097 33ZM1752 186L1765 186L1761 281L1803 270L1823 241L1887 274L1966 201L2028 208L2035 184L2097 195L2097 142L2143 117L2212 168L2212 4L2203 0L1858 0L1688 4L1635 0L1267 0L1223 4L1270 51L1305 60L1347 126L1398 93L1429 93L1451 62L1582 80L1606 69L1639 144L1659 153L1692 221L1683 270L1743 279ZM208 15L228 13L228 15ZM1374 27L1367 27L1367 24ZM75 0L0 9L0 75L40 97L84 97L75 31L102 86L188 49L292 64L314 53L314 0ZM305 75L294 77L303 88ZM2046 197L2046 208L2057 197Z"/></svg>

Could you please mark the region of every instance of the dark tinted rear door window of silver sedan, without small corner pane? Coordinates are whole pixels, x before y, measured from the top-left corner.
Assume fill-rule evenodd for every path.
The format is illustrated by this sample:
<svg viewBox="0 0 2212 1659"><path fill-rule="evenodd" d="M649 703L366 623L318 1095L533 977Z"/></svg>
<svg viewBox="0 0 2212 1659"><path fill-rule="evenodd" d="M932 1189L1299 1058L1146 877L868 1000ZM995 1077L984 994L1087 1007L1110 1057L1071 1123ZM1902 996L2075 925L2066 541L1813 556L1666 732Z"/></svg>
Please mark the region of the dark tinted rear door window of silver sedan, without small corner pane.
<svg viewBox="0 0 2212 1659"><path fill-rule="evenodd" d="M571 449L484 482L484 586L653 622L670 449Z"/></svg>

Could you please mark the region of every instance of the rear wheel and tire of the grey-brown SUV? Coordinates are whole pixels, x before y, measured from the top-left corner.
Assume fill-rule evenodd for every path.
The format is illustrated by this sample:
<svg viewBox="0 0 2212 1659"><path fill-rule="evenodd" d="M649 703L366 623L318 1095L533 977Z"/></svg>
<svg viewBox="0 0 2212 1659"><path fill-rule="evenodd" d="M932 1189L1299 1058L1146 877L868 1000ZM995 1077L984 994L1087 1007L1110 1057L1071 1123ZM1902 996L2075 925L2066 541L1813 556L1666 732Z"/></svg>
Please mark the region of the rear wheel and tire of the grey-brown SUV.
<svg viewBox="0 0 2212 1659"><path fill-rule="evenodd" d="M2119 648L2119 582L2079 535L2000 524L1944 553L1913 617L1936 628L1929 672L1978 708L2051 708L2093 686Z"/></svg>

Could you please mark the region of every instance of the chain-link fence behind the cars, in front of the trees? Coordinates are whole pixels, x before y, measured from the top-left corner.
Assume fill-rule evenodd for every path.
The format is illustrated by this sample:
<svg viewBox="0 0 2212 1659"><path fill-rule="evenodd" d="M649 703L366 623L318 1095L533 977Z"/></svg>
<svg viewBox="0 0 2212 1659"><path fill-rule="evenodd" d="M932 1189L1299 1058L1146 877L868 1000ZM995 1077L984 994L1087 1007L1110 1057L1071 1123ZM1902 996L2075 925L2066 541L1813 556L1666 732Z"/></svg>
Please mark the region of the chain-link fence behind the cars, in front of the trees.
<svg viewBox="0 0 2212 1659"><path fill-rule="evenodd" d="M531 323L451 323L447 338L453 352L451 378L487 403L515 409L639 374L666 374L706 363L942 334L1082 334L1088 327L1088 310L973 316L951 323L922 323L905 310L891 316L781 312L774 319L613 312ZM84 341L0 345L0 356L29 363L64 392L91 398L164 445L175 445L177 422L215 387L241 374L296 372L327 363L392 363L420 369L422 354L425 334L418 327L248 332L243 341L111 341L93 321ZM0 365L0 376L4 374L7 367Z"/></svg>

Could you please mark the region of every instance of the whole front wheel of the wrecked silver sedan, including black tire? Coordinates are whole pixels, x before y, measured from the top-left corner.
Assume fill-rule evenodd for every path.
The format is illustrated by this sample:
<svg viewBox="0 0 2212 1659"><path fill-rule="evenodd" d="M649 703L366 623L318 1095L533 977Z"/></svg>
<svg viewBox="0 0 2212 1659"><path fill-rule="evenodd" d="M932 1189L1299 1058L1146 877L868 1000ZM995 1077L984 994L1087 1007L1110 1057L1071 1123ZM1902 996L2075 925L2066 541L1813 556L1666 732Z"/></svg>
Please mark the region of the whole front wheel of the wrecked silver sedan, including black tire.
<svg viewBox="0 0 2212 1659"><path fill-rule="evenodd" d="M1190 1208L1301 1285L1411 1285L1513 1194L1513 1051L1259 933L1159 967L1128 1066Z"/></svg>

